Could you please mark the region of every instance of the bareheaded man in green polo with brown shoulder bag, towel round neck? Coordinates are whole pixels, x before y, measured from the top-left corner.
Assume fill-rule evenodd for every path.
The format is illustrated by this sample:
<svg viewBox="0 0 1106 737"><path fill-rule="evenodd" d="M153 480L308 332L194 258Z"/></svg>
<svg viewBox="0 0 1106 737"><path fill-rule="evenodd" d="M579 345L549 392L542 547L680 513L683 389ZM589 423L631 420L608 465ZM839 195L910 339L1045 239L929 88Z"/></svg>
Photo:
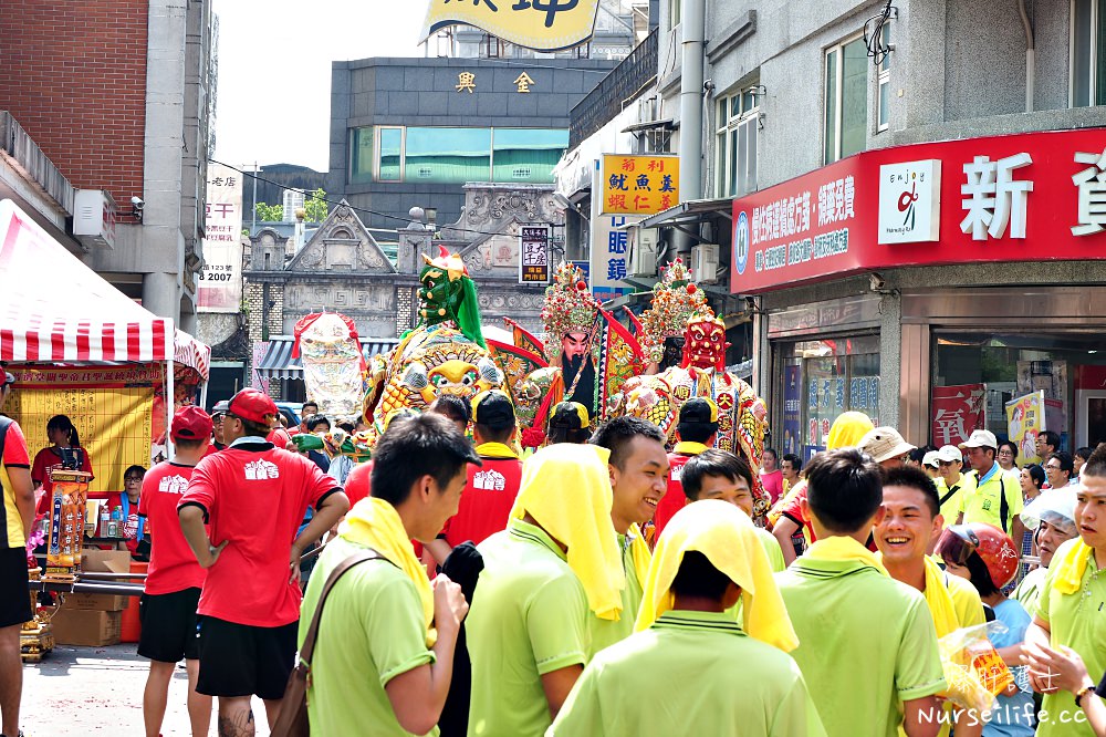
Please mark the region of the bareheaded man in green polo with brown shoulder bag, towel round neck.
<svg viewBox="0 0 1106 737"><path fill-rule="evenodd" d="M347 571L326 599L307 689L312 734L437 734L468 605L445 575L431 591L410 540L434 540L457 512L470 463L480 463L472 446L438 415L394 422L380 436L373 496L326 546L303 600L301 647L331 571L369 549L384 556Z"/></svg>

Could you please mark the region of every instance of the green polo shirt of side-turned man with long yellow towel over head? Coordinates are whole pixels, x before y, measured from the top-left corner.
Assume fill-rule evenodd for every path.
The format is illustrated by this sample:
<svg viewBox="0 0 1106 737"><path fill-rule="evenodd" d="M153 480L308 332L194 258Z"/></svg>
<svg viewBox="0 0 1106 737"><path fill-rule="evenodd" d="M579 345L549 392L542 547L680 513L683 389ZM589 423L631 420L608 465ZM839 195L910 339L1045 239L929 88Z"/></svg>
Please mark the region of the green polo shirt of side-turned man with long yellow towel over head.
<svg viewBox="0 0 1106 737"><path fill-rule="evenodd" d="M468 734L538 737L551 722L541 676L587 662L587 596L539 527L511 520L477 549L484 569L465 620Z"/></svg>

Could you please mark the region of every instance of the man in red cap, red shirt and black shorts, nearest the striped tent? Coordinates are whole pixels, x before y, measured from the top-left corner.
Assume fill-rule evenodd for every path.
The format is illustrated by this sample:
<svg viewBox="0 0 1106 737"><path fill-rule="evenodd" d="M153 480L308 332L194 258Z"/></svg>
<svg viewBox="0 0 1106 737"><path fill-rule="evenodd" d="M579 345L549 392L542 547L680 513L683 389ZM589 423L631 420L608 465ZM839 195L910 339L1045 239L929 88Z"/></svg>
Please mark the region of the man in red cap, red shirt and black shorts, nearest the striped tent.
<svg viewBox="0 0 1106 737"><path fill-rule="evenodd" d="M196 640L196 606L207 571L188 548L177 505L188 488L192 470L207 455L211 418L196 406L177 409L169 426L177 448L173 460L154 466L143 478L138 515L146 520L152 539L146 589L138 604L142 635L138 654L149 658L149 675L143 694L146 737L157 737L165 719L169 682L180 658L188 671L188 717L192 737L211 728L211 697L196 693L199 643Z"/></svg>

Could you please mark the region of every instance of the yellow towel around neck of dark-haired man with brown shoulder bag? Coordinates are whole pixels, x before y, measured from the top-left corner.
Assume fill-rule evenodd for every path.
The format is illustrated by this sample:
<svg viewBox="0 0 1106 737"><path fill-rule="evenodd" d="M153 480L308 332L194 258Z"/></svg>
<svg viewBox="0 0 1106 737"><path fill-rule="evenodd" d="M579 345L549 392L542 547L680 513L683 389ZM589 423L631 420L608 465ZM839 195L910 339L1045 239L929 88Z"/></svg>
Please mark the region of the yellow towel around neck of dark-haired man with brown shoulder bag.
<svg viewBox="0 0 1106 737"><path fill-rule="evenodd" d="M422 601L422 615L426 617L426 644L427 647L432 646L438 639L434 629L434 590L426 578L426 569L415 558L410 536L404 529L396 508L375 497L362 499L346 515L345 521L338 527L338 536L373 548L415 582L415 589Z"/></svg>

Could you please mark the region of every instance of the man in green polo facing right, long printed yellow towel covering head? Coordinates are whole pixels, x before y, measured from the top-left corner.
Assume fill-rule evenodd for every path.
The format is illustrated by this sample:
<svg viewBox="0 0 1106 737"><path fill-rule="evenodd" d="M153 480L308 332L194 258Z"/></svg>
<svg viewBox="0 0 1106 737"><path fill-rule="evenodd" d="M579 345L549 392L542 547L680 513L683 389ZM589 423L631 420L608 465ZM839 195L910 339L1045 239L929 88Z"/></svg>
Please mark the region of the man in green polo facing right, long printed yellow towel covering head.
<svg viewBox="0 0 1106 737"><path fill-rule="evenodd" d="M627 616L607 458L566 443L535 453L507 529L478 546L470 737L544 734L591 656L593 612Z"/></svg>

